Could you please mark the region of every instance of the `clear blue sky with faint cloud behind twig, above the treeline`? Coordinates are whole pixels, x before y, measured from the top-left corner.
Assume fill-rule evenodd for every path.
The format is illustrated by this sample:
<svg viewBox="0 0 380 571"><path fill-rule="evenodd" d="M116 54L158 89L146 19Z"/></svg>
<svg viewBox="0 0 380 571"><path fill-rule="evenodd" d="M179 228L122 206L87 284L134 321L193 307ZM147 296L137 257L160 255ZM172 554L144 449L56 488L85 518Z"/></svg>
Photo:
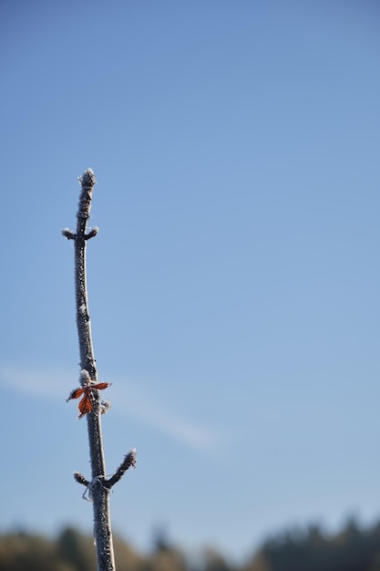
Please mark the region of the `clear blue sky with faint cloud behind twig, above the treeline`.
<svg viewBox="0 0 380 571"><path fill-rule="evenodd" d="M380 516L379 29L366 0L3 0L0 531L91 529L60 234L88 167L108 473L139 460L114 529L240 557Z"/></svg>

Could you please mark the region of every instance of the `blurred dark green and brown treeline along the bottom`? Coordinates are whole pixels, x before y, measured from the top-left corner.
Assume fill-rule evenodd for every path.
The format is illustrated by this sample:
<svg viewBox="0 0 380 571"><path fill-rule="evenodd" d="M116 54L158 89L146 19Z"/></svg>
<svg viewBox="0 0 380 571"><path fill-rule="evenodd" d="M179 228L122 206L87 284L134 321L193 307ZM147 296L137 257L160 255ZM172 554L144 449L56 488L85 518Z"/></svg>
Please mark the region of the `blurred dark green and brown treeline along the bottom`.
<svg viewBox="0 0 380 571"><path fill-rule="evenodd" d="M335 535L317 525L265 540L244 563L233 564L205 548L185 554L164 536L141 555L114 537L118 571L380 571L380 523L362 528L350 520ZM0 535L0 571L94 571L92 537L67 527L56 539L26 532Z"/></svg>

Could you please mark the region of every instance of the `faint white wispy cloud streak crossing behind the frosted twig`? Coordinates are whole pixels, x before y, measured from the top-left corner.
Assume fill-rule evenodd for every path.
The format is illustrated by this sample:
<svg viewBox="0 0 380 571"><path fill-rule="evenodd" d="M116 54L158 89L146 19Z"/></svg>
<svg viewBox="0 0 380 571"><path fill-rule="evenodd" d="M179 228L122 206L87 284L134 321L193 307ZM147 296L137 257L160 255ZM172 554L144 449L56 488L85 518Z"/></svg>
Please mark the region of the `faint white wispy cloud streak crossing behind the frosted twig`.
<svg viewBox="0 0 380 571"><path fill-rule="evenodd" d="M0 366L0 384L17 392L56 402L65 400L74 388L76 377L78 378L78 374L73 371L62 369L26 370L9 365ZM216 431L180 417L172 410L180 410L180 406L172 404L169 407L163 404L157 395L153 395L148 388L141 386L141 383L114 379L114 384L117 395L113 399L110 397L110 400L116 414L127 415L128 418L165 434L171 440L180 441L198 451L210 452L220 443L221 438ZM67 395L64 394L65 388Z"/></svg>

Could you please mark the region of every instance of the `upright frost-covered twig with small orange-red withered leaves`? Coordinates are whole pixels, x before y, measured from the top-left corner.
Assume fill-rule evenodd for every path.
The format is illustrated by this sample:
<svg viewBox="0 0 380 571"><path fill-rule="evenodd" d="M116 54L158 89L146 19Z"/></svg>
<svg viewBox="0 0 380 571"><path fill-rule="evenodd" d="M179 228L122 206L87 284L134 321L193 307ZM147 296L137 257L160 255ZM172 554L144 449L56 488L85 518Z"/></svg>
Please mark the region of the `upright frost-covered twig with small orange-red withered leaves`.
<svg viewBox="0 0 380 571"><path fill-rule="evenodd" d="M136 464L136 451L129 452L124 461L121 462L118 471L109 480L106 480L106 462L100 419L101 414L107 412L110 405L107 400L100 400L98 389L105 389L110 383L98 384L98 370L92 345L86 284L86 244L87 240L98 234L97 227L92 228L87 233L92 192L96 184L94 172L91 169L87 169L79 177L79 182L81 193L77 211L77 232L74 233L68 228L62 230L62 234L67 240L74 240L77 333L81 369L79 379L81 388L74 389L67 400L77 399L79 396L84 397L84 400L79 403L79 410L81 411L79 416L87 416L92 478L88 482L80 472L75 472L74 478L77 483L86 486L89 499L94 506L94 538L97 550L98 571L115 571L109 514L109 490L130 466Z"/></svg>

